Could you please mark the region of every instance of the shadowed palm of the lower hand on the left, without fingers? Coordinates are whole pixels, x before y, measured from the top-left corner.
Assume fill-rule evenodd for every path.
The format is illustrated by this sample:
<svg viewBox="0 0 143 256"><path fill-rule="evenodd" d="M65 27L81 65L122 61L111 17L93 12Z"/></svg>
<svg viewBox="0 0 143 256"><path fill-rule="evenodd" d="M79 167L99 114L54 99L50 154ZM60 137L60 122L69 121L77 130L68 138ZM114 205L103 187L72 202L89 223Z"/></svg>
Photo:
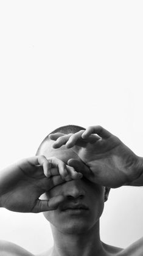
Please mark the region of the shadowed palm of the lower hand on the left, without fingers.
<svg viewBox="0 0 143 256"><path fill-rule="evenodd" d="M44 192L47 178L41 167L32 167L28 162L25 165L26 170L13 166L14 172L2 177L2 201L5 208L12 211L32 211L35 200Z"/></svg>

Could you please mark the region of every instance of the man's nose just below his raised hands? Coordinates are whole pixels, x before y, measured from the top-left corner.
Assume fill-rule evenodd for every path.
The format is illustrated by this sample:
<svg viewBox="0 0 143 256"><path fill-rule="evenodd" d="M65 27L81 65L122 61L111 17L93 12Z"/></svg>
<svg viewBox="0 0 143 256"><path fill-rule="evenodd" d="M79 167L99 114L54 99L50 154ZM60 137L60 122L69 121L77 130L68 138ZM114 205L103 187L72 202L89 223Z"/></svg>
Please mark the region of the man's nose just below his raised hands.
<svg viewBox="0 0 143 256"><path fill-rule="evenodd" d="M64 195L69 200L75 198L82 199L85 196L85 190L83 189L82 181L80 179L68 181L65 185Z"/></svg>

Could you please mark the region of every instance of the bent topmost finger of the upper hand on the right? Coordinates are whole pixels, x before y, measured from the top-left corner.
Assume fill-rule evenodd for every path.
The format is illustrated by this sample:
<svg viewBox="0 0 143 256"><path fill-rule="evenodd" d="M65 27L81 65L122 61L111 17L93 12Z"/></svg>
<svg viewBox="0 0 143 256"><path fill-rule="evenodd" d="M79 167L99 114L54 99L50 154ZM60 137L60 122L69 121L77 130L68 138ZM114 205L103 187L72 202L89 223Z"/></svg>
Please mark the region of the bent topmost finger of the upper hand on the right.
<svg viewBox="0 0 143 256"><path fill-rule="evenodd" d="M102 138L109 138L112 136L108 130L104 129L102 126L89 126L82 134L82 138L86 139L91 134L97 134Z"/></svg>

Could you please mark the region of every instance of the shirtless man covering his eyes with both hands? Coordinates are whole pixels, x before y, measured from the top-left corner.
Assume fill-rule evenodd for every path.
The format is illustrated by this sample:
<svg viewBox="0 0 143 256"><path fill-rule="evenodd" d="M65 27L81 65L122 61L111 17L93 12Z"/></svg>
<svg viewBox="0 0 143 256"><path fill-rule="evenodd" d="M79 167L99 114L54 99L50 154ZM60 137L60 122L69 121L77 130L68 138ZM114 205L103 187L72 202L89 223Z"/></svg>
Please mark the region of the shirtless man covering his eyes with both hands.
<svg viewBox="0 0 143 256"><path fill-rule="evenodd" d="M1 171L0 206L44 212L54 247L38 256L141 256L143 238L127 249L102 243L99 219L110 188L142 186L142 173L142 157L107 130L64 126L44 139L37 156ZM1 241L0 255L33 254Z"/></svg>

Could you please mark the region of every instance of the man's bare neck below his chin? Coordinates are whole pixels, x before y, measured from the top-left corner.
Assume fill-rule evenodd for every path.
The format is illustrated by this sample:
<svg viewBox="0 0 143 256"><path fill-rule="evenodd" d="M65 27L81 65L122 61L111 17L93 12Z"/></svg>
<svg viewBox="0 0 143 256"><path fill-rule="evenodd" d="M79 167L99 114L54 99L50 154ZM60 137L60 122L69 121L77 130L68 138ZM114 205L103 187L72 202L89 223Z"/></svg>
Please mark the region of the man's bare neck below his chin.
<svg viewBox="0 0 143 256"><path fill-rule="evenodd" d="M65 234L52 226L54 248L52 256L106 256L99 235L99 222L80 234ZM64 242L64 243L63 243Z"/></svg>

